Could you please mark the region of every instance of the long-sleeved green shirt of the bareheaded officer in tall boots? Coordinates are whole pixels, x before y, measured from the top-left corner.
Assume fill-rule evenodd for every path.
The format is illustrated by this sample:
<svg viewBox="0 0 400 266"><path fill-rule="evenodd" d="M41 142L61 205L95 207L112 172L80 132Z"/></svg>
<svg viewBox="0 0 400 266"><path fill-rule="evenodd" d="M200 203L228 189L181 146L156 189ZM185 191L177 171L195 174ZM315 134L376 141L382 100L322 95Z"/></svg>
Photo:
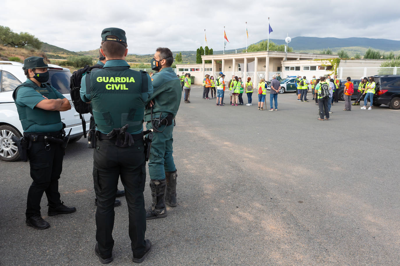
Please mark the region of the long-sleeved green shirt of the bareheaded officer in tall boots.
<svg viewBox="0 0 400 266"><path fill-rule="evenodd" d="M180 99L182 98L182 87L174 70L171 67L161 69L160 72L152 76L153 95L147 99L146 105L153 100L153 118L159 117L162 112L162 118L172 114L174 117L178 112ZM150 121L151 108L146 109L144 121Z"/></svg>

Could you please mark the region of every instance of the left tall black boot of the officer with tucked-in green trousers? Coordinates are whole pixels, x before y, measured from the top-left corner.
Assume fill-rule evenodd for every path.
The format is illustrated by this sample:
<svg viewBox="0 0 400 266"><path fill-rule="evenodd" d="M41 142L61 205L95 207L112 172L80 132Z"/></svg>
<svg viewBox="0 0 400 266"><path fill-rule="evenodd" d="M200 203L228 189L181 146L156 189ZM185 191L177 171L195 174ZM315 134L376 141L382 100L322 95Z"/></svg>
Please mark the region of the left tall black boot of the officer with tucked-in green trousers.
<svg viewBox="0 0 400 266"><path fill-rule="evenodd" d="M165 191L166 181L165 179L156 180L150 179L150 189L153 202L146 211L146 220L164 218L167 216L167 209L165 207Z"/></svg>

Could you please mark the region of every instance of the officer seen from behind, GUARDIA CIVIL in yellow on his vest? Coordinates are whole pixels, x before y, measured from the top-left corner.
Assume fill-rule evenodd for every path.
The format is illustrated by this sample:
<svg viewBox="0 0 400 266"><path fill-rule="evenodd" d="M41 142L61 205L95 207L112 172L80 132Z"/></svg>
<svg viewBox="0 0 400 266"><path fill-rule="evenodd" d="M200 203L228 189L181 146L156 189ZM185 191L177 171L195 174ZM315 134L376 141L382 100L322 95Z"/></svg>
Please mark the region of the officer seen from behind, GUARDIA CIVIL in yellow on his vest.
<svg viewBox="0 0 400 266"><path fill-rule="evenodd" d="M95 254L102 263L113 260L114 201L120 176L129 212L129 236L133 261L142 262L151 249L144 239L146 210L144 185L146 161L143 140L145 102L153 93L146 72L130 69L124 30L102 31L103 69L82 77L81 98L92 107L96 123L93 180L97 196Z"/></svg>

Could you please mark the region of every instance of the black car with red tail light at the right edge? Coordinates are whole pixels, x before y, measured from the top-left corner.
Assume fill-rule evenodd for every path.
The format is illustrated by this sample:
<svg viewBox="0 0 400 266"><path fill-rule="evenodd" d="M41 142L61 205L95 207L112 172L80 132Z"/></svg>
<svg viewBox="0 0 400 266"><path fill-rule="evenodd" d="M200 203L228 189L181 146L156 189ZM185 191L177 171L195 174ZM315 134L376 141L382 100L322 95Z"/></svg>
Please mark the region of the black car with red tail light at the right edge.
<svg viewBox="0 0 400 266"><path fill-rule="evenodd" d="M388 105L390 109L400 109L400 75L376 75L375 94L372 105Z"/></svg>

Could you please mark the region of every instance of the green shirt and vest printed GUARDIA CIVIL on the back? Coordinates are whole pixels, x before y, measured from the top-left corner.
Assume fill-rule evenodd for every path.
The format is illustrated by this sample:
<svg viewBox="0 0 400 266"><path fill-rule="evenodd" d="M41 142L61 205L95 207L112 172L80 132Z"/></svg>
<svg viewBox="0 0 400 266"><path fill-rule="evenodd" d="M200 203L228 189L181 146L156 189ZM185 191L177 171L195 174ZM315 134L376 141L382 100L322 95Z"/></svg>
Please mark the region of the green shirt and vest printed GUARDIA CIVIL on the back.
<svg viewBox="0 0 400 266"><path fill-rule="evenodd" d="M81 99L91 101L96 128L104 134L125 124L131 134L143 130L144 106L153 86L146 74L142 91L142 74L129 68L125 60L108 60L103 69L90 73L90 91L86 90L86 76L82 77Z"/></svg>

